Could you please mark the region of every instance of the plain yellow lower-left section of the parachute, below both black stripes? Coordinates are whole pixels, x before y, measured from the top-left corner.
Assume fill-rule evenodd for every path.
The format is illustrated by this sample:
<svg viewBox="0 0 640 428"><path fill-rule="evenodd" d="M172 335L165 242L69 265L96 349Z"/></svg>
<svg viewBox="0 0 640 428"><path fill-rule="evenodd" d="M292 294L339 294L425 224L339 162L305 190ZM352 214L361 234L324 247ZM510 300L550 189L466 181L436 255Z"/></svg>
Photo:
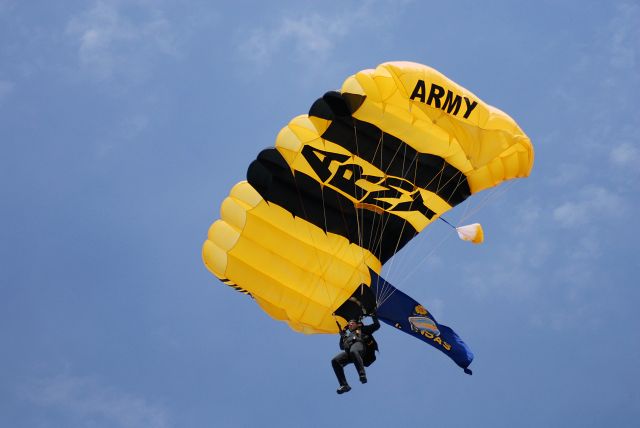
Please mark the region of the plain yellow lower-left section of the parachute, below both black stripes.
<svg viewBox="0 0 640 428"><path fill-rule="evenodd" d="M222 204L203 245L205 265L251 293L275 319L304 333L335 333L333 311L380 262L342 236L324 233L246 182Z"/></svg>

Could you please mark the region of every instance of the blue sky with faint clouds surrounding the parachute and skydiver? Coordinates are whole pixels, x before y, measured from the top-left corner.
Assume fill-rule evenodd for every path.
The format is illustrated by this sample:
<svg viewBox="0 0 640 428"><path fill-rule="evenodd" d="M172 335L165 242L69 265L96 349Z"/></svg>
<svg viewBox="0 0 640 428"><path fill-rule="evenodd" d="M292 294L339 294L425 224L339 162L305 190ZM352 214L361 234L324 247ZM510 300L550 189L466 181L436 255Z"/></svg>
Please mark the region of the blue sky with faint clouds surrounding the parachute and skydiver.
<svg viewBox="0 0 640 428"><path fill-rule="evenodd" d="M0 424L635 426L638 22L637 0L0 1ZM448 215L485 244L437 224L384 271L474 375L383 326L337 396L336 338L200 248L280 128L390 60L508 112L536 161Z"/></svg>

